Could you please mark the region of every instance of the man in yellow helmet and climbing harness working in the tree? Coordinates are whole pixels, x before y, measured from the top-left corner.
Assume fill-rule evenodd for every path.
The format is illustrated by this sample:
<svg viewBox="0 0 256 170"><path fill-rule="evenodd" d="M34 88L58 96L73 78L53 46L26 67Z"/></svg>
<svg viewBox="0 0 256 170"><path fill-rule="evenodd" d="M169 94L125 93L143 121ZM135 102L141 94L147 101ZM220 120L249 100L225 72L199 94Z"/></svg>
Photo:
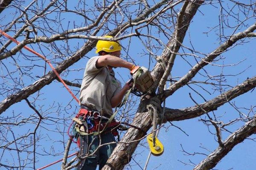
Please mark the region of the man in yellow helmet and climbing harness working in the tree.
<svg viewBox="0 0 256 170"><path fill-rule="evenodd" d="M111 36L105 37L112 38ZM104 120L101 116L109 118L113 115L112 108L121 103L125 93L132 86L132 83L127 82L121 88L121 83L115 78L113 68L123 67L132 71L136 67L120 58L121 49L119 42L99 40L96 45L96 53L99 56L92 57L87 62L80 89L81 109L73 119L76 122L74 133L80 147L81 157L93 153L100 142L101 144L115 142L116 131L111 125L114 122L111 122L103 133L97 132L104 127ZM99 164L99 170L101 170L115 147L116 144L100 147L93 156L81 159L77 169L95 170Z"/></svg>

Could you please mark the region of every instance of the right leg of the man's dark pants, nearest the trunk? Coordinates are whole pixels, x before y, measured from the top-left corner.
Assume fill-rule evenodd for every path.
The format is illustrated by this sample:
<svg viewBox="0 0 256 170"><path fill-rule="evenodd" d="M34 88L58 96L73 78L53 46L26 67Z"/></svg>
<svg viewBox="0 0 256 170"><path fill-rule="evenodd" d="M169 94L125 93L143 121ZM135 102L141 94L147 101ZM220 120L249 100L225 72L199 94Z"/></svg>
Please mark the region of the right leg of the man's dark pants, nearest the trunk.
<svg viewBox="0 0 256 170"><path fill-rule="evenodd" d="M102 144L116 141L115 136L113 136L113 134L110 132L105 133L104 135L101 135L101 139L102 139ZM101 170L102 167L104 167L104 165L108 161L108 158L111 156L111 153L113 152L115 147L116 147L116 143L102 146L99 149L99 170Z"/></svg>

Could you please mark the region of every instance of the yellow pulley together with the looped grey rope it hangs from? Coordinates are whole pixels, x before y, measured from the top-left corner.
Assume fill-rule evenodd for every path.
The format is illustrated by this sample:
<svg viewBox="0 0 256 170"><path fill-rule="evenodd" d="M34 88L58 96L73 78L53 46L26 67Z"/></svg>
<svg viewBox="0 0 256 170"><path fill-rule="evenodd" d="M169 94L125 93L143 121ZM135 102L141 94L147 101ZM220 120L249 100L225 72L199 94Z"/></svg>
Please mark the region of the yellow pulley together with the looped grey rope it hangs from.
<svg viewBox="0 0 256 170"><path fill-rule="evenodd" d="M152 134L147 136L147 142L149 145L149 149L154 156L160 156L163 154L163 144L157 139L156 131L157 131L157 124L161 124L163 121L163 115L157 113L163 113L160 100L157 98L151 98L150 104L147 105L147 109L150 113L151 120L152 120Z"/></svg>

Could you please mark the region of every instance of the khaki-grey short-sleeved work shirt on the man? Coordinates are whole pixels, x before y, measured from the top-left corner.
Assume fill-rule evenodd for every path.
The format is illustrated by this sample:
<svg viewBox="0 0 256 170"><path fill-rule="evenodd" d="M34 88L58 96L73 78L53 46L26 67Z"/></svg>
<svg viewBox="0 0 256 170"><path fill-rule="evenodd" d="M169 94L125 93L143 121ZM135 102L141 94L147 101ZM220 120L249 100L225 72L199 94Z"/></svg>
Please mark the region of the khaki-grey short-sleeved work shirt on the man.
<svg viewBox="0 0 256 170"><path fill-rule="evenodd" d="M121 83L108 67L97 68L100 56L92 57L86 64L80 89L80 103L95 111L113 114L111 98L121 90Z"/></svg>

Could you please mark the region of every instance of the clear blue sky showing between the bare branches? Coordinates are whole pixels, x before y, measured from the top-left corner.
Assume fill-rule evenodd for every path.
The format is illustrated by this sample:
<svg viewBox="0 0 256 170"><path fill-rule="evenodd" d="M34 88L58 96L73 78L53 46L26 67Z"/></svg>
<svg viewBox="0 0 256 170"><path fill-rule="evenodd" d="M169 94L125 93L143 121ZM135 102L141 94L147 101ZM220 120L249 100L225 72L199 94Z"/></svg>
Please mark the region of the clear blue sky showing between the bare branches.
<svg viewBox="0 0 256 170"><path fill-rule="evenodd" d="M218 4L216 4L218 6ZM197 12L195 17L192 20L192 23L189 27L189 34L186 35L183 45L189 48L192 48L190 45L190 41L193 44L193 47L195 48L195 51L200 51L201 53L211 53L216 47L219 46L219 41L218 41L218 31L217 28L213 29L213 31L209 32L208 34L204 34L204 32L209 31L211 28L210 27L215 27L218 25L218 20L219 20L219 12L220 8L215 8L214 6L210 5L204 5L199 8L201 12ZM236 9L234 11L238 11ZM9 10L5 10L4 12L1 13L0 16L8 15L10 13ZM72 21L76 21L77 23L82 22L81 18L77 17L72 17L68 15L62 16L64 17L63 22L72 23ZM240 16L243 18L243 16ZM6 22L10 22L12 20L12 15L8 15ZM230 18L230 20L232 17ZM1 21L5 22L5 20ZM247 20L245 23L248 25L252 25L255 22L255 17L252 17L251 19ZM235 26L235 22L231 22L231 25ZM66 25L67 26L67 25ZM225 35L230 35L233 33L235 28L227 28L225 29ZM243 31L246 29L245 27L240 27L235 31L235 33L239 31ZM154 31L154 30L153 30ZM190 35L190 40L189 40L189 35ZM157 36L155 34L155 36ZM167 42L168 40L165 37L159 37L163 42ZM20 38L21 39L21 38ZM241 62L239 65L236 66L227 66L224 67L223 70L221 67L214 66L214 65L208 65L205 67L207 72L210 75L219 75L221 74L221 71L223 71L224 75L231 75L231 74L238 74L242 71L244 71L246 68L249 68L244 71L243 73L237 75L237 76L224 76L225 79L227 79L227 82L225 84L229 84L231 86L235 86L237 84L240 84L243 82L247 77L253 77L255 76L255 64L256 64L256 48L255 48L255 40L253 38L251 39L245 39L248 41L247 43L243 43L242 45L237 45L235 48L230 49L230 51L225 52L222 54L222 57L225 57L224 60L221 60L220 62L216 62L215 64L218 65L233 65L243 59L245 59L243 62ZM79 45L77 44L79 42ZM63 42L59 41L58 44L61 45ZM127 47L128 45L128 39L122 40L121 41L122 45ZM74 50L76 46L81 47L83 44L83 40L70 40L69 45L71 48ZM13 47L11 45L10 47ZM10 49L10 47L8 49ZM38 45L33 44L33 48L38 49ZM143 50L145 48L141 44L141 42L136 38L133 37L131 39L131 44L130 44L130 49L129 49L129 55L134 59L135 63L137 65L145 66L148 67L148 56L142 56ZM29 54L25 50L22 50L25 54ZM190 51L185 50L186 53L189 53ZM40 51L39 51L40 52ZM161 50L157 53L158 55L161 54ZM179 51L180 53L183 53L183 51ZM52 58L52 53L49 51L45 51L45 54L47 54L47 58ZM29 54L33 55L33 54ZM79 82L81 83L81 78L83 76L84 70L83 68L86 65L87 58L86 57L93 57L95 54L94 50L90 51L90 53L86 54L86 56L81 59L79 62L74 64L69 68L69 70L74 70L70 71L69 74L63 74L62 76L64 79L68 80L74 80L77 79L74 82ZM199 57L204 57L202 54L197 54ZM183 56L185 59L189 61L191 65L194 65L195 59L192 56ZM27 62L24 60L22 57L18 56L18 54L15 55L15 59L19 59L20 65L42 65L44 61L39 59L38 61L34 62ZM59 61L59 60L58 60ZM11 59L5 59L3 60L6 65L9 66L10 69L16 69L12 64L8 64L11 61ZM155 61L153 60L153 63L151 63L151 69L154 67ZM177 58L175 60L175 65L172 70L172 77L182 77L189 71L191 66L187 64L182 57L177 55ZM79 69L76 70L76 69ZM49 67L47 67L47 72L50 70ZM124 68L117 68L116 70L116 77L120 80L124 79L124 81L121 81L124 83L129 79L129 72L128 70ZM200 73L204 74L203 71L200 71ZM33 71L33 74L35 76L41 77L44 74L44 70L40 67L35 68ZM120 77L122 75L122 77ZM38 78L35 78L38 79ZM200 75L197 75L193 80L198 80L198 81L204 81L206 78L202 77ZM31 80L30 78L23 77L24 81L24 87L26 85L29 85L33 83L34 81ZM217 81L212 81L212 82L217 82ZM218 96L220 93L218 91L214 91L211 86L204 85L204 88L207 88L207 90L211 93L208 94L201 88L195 85L191 85L192 88L194 88L196 91L201 93L207 100L214 98L215 96ZM22 88L22 86L18 87ZM73 89L74 93L78 93L79 88L74 88ZM168 99L166 99L166 107L169 108L186 108L186 107L191 107L194 106L195 103L190 99L189 93L196 99L198 103L204 102L203 99L201 99L198 94L193 92L190 88L187 86L184 86L183 88L179 89L178 91L175 92L172 96L170 96ZM55 117L55 119L59 119L58 121L61 122L62 119L67 119L68 117L74 116L74 114L77 111L78 105L77 103L72 100L72 97L68 94L68 92L63 88L63 86L57 82L54 81L50 85L45 86L42 90L40 90L41 96L39 97L40 101L36 102L36 105L38 108L42 108L42 111L49 112L49 116ZM244 107L244 108L250 108L251 105L255 105L256 101L256 95L255 91L253 92L248 92L247 94L244 94L242 96L237 97L236 99L232 100L231 102L236 102L236 105L238 107ZM33 94L32 96L29 97L29 100L33 101L33 97L35 97L36 94ZM77 96L79 96L77 94ZM3 100L5 97L0 96L0 99ZM133 96L134 100L139 100L138 98ZM71 101L71 102L70 102ZM54 103L54 107L51 108L49 111L47 108ZM60 109L58 109L58 106L61 106ZM72 108L70 108L70 105L72 105ZM136 109L136 107L134 107ZM246 110L240 109L244 113L247 113ZM31 108L29 108L26 105L26 102L21 101L19 103L16 103L15 105L12 105L9 109L7 109L3 115L7 116L10 115L12 112L15 114L21 113L22 117L28 117L32 113L34 113ZM209 113L212 115L212 113ZM225 104L224 106L221 106L218 108L217 111L215 111L215 115L223 115L223 117L220 118L221 121L224 123L229 122L232 119L235 119L238 117L238 112L232 108L229 104ZM2 115L1 115L2 116ZM22 117L20 119L22 119ZM204 116L201 116L203 119ZM172 170L172 169L182 169L182 170L190 170L193 167L190 165L184 166L183 163L180 161L186 162L188 164L189 160L194 162L195 164L198 164L202 159L205 158L204 155L196 155L196 156L186 156L184 155L183 152L181 152L181 144L183 146L183 149L186 150L189 153L196 153L196 152L201 152L205 154L209 154L209 151L203 149L202 147L207 148L208 150L215 150L216 147L218 147L218 143L215 142L215 136L210 134L208 131L208 128L206 125L203 124L203 122L198 121L198 119L201 119L200 117L195 118L195 119L190 119L190 120L185 120L185 121L180 121L180 122L172 122L174 125L180 127L182 130L184 130L189 136L186 136L182 131L177 129L176 127L170 126L169 123L164 125L164 128L161 128L160 134L159 134L159 139L160 141L164 144L165 147L165 152L163 153L162 156L155 157L151 156L151 161L148 164L148 170L153 170L154 168L158 167L158 169L163 169L163 170ZM71 122L67 121L67 124ZM40 131L38 131L38 135L42 135L43 139L40 142L41 148L39 148L39 152L44 153L44 150L49 153L61 153L64 150L64 145L59 142L59 140L67 141L68 136L66 133L62 134L61 133L55 133L53 131L56 130L61 130L66 132L67 131L67 125L65 126L59 126L58 124L54 125L54 122L47 122L50 123L51 125L49 126L48 129L40 128ZM230 130L236 130L239 128L241 125L243 125L244 122L239 122L235 125L232 125L228 127ZM60 124L61 125L61 124ZM29 131L35 127L34 124L29 124L27 126L22 126L16 127L17 133L23 134L26 131ZM167 129L166 129L167 128ZM211 127L210 129L212 132L214 132L214 128ZM226 137L229 135L229 133L224 132L223 133L223 140L226 139ZM251 136L253 137L253 136ZM254 136L255 137L255 136ZM50 140L51 139L51 140ZM145 143L145 140L143 140L141 143ZM75 144L72 145L73 149L76 147ZM256 166L256 162L253 161L256 156L256 153L253 151L253 148L255 147L255 142L252 140L245 140L243 143L238 144L236 147L233 148L228 155L220 161L219 164L214 169L219 169L219 170L228 170L233 167L234 170L240 170L240 169L253 169ZM55 152L53 152L53 150ZM74 151L70 151L70 153L73 153ZM141 167L144 167L145 160L148 155L148 148L140 146L137 148L136 153L138 153L134 159L140 164ZM21 153L22 154L22 153ZM4 153L5 156L11 156L9 153ZM12 155L14 158L15 153ZM36 163L36 167L42 167L45 164L48 164L52 161L61 159L63 156L40 156L39 154L37 155L38 161ZM2 159L4 161L5 159ZM180 161L178 161L180 160ZM52 166L51 168L48 169L54 169L54 168L59 168L60 163ZM127 169L132 169L132 170L140 170L141 168L137 165L135 165L134 161L131 161L130 165L132 167L127 167Z"/></svg>

